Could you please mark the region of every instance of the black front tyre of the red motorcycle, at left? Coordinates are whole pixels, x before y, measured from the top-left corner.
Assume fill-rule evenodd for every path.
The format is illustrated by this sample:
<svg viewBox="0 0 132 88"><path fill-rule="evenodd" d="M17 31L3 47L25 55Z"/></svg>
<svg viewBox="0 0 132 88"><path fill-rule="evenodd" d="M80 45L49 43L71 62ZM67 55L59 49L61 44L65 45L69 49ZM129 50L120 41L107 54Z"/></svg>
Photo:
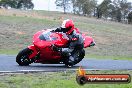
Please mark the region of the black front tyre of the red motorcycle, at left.
<svg viewBox="0 0 132 88"><path fill-rule="evenodd" d="M18 53L18 55L16 56L16 62L20 65L20 66L28 66L29 64L31 64L31 61L29 59L29 55L32 53L32 50L30 50L29 48L25 48L22 51L20 51Z"/></svg>

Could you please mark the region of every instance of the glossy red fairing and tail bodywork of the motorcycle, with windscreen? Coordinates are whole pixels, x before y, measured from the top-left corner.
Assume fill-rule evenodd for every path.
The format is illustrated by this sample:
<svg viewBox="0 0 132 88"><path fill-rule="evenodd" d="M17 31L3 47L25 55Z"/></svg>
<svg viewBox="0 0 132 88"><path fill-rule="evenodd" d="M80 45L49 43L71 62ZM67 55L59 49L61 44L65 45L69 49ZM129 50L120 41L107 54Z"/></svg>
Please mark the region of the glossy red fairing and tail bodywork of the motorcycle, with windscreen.
<svg viewBox="0 0 132 88"><path fill-rule="evenodd" d="M41 36L41 38L40 38ZM82 33L84 38L84 47L88 47L93 39L89 36L86 36ZM68 43L69 38L61 32L50 32L48 30L42 30L34 34L33 36L33 45L28 46L33 52L29 56L29 58L33 58L40 52L40 60L38 62L46 63L46 62L59 62L62 57L60 52L56 52L52 50L52 45L56 45L58 47L65 47Z"/></svg>

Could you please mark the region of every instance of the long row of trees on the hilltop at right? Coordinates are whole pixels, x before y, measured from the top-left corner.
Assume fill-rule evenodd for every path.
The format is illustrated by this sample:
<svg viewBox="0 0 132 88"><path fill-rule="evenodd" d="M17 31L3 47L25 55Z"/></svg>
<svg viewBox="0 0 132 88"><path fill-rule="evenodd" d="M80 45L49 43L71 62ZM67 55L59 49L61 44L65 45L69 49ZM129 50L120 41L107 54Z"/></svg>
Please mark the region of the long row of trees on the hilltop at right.
<svg viewBox="0 0 132 88"><path fill-rule="evenodd" d="M56 0L55 3L64 13L72 9L78 15L132 23L132 3L127 0L104 0L99 5L97 0Z"/></svg>

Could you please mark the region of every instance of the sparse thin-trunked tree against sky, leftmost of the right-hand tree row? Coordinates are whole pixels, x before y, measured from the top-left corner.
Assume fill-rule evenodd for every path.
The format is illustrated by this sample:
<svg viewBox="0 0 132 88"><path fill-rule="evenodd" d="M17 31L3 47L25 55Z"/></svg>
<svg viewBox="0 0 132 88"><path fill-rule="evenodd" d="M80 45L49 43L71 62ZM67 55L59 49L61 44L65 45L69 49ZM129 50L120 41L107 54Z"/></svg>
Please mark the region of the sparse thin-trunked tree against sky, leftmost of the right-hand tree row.
<svg viewBox="0 0 132 88"><path fill-rule="evenodd" d="M65 14L66 10L70 8L71 2L71 0L56 0L55 4L56 6L63 8Z"/></svg>

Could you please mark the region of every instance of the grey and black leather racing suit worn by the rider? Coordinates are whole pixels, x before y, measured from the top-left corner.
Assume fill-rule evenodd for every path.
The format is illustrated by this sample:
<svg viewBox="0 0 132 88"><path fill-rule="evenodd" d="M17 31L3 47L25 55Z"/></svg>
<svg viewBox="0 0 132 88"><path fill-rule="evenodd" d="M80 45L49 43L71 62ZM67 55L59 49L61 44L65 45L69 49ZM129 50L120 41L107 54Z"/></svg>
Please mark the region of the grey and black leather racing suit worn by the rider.
<svg viewBox="0 0 132 88"><path fill-rule="evenodd" d="M66 33L66 31L61 27L57 28L54 31ZM63 57L69 58L68 62L72 64L72 62L75 60L74 51L82 50L84 48L84 40L83 40L82 35L80 33L77 33L76 30L73 30L72 33L67 35L67 37L69 38L68 47L67 48L58 48L58 51L61 51ZM73 38L76 38L76 40L72 41Z"/></svg>

